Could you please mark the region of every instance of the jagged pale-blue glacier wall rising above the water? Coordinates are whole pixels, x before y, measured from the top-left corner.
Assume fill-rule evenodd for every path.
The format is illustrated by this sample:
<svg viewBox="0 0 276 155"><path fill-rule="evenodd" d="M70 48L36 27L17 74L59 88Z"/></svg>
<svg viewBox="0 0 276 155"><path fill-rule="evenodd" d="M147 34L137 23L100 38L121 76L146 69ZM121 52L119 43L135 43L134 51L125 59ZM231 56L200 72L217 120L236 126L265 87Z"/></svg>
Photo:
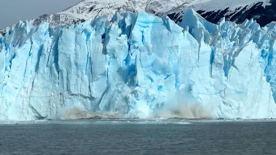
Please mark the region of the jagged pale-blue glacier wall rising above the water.
<svg viewBox="0 0 276 155"><path fill-rule="evenodd" d="M67 108L126 118L276 118L276 22L116 12L0 35L0 120Z"/></svg>

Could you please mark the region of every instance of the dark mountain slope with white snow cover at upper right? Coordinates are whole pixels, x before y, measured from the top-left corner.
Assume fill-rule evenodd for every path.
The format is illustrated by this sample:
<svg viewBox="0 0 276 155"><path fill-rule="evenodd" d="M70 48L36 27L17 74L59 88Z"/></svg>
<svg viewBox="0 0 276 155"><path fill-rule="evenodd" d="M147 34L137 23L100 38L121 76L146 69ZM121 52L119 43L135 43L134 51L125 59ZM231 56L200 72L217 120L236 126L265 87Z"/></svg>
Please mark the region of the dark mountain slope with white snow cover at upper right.
<svg viewBox="0 0 276 155"><path fill-rule="evenodd" d="M193 8L210 22L217 23L222 17L226 20L242 23L254 18L261 26L276 20L275 0L193 0L167 12L175 22L181 21L186 8Z"/></svg>

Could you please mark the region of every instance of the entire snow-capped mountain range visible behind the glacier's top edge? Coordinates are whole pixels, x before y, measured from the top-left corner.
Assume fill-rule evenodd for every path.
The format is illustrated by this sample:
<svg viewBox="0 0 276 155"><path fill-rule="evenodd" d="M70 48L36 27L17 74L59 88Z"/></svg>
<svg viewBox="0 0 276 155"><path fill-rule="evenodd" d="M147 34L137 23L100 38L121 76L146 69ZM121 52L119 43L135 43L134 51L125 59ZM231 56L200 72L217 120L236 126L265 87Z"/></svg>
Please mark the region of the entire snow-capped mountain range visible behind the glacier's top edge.
<svg viewBox="0 0 276 155"><path fill-rule="evenodd" d="M97 15L107 15L121 11L145 11L158 17L168 15L170 19L181 22L187 8L193 8L208 21L217 23L222 17L238 24L245 19L254 18L261 26L276 21L276 0L84 0L62 12L42 15L30 20L33 26L45 21L52 26L83 22ZM11 27L0 30L2 35Z"/></svg>

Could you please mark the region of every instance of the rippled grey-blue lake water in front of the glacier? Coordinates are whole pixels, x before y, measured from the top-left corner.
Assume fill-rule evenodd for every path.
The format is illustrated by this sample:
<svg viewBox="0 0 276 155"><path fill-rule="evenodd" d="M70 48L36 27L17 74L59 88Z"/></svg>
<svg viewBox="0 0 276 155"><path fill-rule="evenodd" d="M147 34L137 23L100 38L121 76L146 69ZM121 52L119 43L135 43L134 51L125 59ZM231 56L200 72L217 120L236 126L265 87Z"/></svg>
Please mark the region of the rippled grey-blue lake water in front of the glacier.
<svg viewBox="0 0 276 155"><path fill-rule="evenodd" d="M0 122L0 154L276 154L276 121Z"/></svg>

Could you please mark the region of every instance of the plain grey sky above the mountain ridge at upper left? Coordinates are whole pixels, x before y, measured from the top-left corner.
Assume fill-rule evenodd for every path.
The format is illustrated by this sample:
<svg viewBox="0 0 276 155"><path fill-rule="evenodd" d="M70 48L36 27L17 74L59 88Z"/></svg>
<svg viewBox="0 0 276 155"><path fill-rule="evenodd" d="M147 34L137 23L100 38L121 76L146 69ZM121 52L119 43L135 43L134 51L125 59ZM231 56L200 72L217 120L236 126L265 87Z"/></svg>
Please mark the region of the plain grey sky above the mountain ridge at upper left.
<svg viewBox="0 0 276 155"><path fill-rule="evenodd" d="M0 29L19 20L60 12L82 0L0 0Z"/></svg>

